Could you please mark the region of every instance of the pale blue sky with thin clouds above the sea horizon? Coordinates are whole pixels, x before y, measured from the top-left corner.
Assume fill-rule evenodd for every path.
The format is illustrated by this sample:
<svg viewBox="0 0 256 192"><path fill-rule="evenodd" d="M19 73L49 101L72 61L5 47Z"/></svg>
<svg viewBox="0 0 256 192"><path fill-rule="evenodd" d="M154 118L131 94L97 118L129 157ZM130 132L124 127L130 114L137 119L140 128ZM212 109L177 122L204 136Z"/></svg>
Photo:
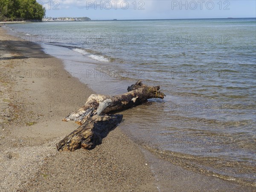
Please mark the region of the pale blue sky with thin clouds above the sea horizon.
<svg viewBox="0 0 256 192"><path fill-rule="evenodd" d="M47 17L190 19L256 17L255 0L37 0Z"/></svg>

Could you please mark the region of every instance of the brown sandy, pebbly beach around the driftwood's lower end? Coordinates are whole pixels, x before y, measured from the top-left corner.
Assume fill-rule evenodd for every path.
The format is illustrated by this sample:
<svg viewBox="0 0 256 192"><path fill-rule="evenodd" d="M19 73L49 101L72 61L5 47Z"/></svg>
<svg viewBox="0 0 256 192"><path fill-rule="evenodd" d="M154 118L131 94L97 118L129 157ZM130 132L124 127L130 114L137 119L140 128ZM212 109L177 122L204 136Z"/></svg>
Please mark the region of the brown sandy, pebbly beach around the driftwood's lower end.
<svg viewBox="0 0 256 192"><path fill-rule="evenodd" d="M159 159L118 127L91 151L57 151L78 127L61 120L94 92L40 45L4 35L1 27L0 191L253 191Z"/></svg>

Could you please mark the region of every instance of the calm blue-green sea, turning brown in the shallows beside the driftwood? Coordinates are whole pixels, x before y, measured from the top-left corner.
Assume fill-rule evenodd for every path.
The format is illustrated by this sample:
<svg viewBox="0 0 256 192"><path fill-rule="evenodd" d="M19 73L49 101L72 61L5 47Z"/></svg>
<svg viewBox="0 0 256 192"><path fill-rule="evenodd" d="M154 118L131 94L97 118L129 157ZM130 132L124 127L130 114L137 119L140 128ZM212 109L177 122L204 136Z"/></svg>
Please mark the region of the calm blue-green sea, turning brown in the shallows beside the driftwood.
<svg viewBox="0 0 256 192"><path fill-rule="evenodd" d="M97 93L142 79L166 98L122 112L132 140L196 172L256 181L256 19L9 25ZM191 166L192 165L192 166Z"/></svg>

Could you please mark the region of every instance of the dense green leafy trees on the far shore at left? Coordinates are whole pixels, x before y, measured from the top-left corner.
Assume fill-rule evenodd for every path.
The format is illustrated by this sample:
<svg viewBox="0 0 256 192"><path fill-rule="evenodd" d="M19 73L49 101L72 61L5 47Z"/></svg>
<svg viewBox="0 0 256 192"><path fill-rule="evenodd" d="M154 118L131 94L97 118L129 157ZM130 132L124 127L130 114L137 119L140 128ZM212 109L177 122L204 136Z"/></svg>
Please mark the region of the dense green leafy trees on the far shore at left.
<svg viewBox="0 0 256 192"><path fill-rule="evenodd" d="M0 20L42 20L45 12L36 0L0 0Z"/></svg>

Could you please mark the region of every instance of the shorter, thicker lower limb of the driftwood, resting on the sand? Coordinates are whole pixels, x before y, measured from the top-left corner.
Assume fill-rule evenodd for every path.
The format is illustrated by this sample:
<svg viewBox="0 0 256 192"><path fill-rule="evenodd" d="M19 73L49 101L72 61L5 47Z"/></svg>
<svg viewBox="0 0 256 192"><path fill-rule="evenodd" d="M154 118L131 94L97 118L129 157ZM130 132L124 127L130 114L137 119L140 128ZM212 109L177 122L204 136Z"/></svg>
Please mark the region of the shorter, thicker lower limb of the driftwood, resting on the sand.
<svg viewBox="0 0 256 192"><path fill-rule="evenodd" d="M92 116L83 125L57 144L58 150L75 151L79 148L91 150L102 143L113 128L122 121L122 115Z"/></svg>

